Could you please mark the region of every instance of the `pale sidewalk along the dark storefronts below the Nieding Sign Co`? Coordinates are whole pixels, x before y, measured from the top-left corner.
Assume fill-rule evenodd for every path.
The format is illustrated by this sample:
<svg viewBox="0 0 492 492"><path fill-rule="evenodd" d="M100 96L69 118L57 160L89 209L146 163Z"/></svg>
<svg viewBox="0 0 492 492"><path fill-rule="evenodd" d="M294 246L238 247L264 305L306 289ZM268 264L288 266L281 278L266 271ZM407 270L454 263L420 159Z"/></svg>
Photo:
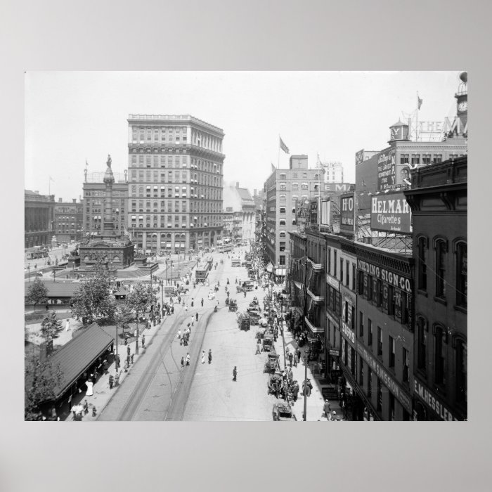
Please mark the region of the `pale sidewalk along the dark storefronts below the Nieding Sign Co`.
<svg viewBox="0 0 492 492"><path fill-rule="evenodd" d="M285 350L287 347L289 351L294 353L297 349L297 342L295 341L292 333L289 330L284 330L284 339L285 339ZM277 354L280 354L280 368L284 368L284 347L283 347L283 339L282 335L277 338L275 342L275 349ZM287 365L290 365L289 359L287 356L285 357L285 362ZM304 381L304 374L306 370L306 362L304 358L304 347L301 347L301 360L297 364L297 368L292 364L292 373L294 375L294 380L297 380L299 383L299 396L297 397L297 401L292 403L292 411L296 416L297 420L303 420L302 414L304 413L304 394L302 394L302 382ZM311 380L311 384L313 385L313 389L311 389L311 396L307 397L306 401L306 421L308 422L316 422L318 420L327 420L325 415L323 414L323 406L325 405L325 399L323 399L323 394L321 394L321 384L313 377L313 373L311 372L311 368L307 368L307 377ZM339 406L339 401L330 400L330 407L337 413L337 418L343 420L342 409Z"/></svg>

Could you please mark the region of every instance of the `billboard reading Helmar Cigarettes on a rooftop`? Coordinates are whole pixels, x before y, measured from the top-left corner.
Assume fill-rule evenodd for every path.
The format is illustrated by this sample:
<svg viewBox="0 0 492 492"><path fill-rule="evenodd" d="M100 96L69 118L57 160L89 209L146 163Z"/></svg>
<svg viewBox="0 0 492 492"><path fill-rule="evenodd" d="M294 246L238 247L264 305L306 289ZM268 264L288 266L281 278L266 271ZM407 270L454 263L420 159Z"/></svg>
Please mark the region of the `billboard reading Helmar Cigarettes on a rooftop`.
<svg viewBox="0 0 492 492"><path fill-rule="evenodd" d="M370 228L373 231L412 232L412 212L403 193L371 197Z"/></svg>

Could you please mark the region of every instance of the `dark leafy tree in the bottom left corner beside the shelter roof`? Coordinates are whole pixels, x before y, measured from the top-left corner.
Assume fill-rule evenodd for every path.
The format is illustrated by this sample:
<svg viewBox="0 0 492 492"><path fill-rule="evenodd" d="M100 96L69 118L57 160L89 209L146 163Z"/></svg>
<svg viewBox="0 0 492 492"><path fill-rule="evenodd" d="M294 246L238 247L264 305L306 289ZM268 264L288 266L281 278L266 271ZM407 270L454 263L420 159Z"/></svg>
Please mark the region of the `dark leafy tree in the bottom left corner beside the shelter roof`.
<svg viewBox="0 0 492 492"><path fill-rule="evenodd" d="M55 398L55 389L63 383L64 376L57 364L38 358L28 363L24 375L24 419L41 420L43 403Z"/></svg>

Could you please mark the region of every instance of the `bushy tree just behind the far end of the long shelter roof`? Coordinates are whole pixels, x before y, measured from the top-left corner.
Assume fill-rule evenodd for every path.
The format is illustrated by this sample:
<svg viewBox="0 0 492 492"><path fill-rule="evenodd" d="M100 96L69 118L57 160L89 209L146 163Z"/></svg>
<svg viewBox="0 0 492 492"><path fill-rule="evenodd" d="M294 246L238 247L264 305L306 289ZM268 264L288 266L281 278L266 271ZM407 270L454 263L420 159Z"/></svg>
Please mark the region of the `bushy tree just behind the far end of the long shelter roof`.
<svg viewBox="0 0 492 492"><path fill-rule="evenodd" d="M92 323L97 318L112 319L116 302L111 286L114 278L101 262L89 272L91 278L84 282L72 297L72 314L80 320Z"/></svg>

